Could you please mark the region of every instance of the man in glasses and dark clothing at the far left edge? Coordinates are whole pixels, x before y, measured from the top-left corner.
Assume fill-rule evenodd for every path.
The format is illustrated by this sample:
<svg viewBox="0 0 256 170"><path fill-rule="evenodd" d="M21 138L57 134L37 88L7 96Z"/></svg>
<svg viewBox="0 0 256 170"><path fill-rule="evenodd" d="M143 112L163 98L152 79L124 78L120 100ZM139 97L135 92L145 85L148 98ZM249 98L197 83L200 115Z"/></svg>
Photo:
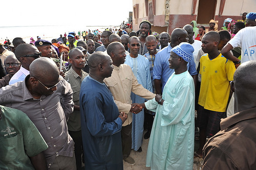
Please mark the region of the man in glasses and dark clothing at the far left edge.
<svg viewBox="0 0 256 170"><path fill-rule="evenodd" d="M20 62L17 60L15 55L12 54L6 57L4 66L9 74L3 77L3 79L0 79L0 88L9 84L12 76L19 70Z"/></svg>

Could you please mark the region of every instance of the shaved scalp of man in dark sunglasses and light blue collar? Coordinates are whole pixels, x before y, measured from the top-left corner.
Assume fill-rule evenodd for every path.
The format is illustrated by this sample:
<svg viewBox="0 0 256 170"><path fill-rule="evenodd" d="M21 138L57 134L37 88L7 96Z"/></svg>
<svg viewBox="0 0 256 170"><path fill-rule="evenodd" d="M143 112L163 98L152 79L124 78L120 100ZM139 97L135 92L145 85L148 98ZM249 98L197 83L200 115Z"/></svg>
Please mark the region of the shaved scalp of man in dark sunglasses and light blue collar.
<svg viewBox="0 0 256 170"><path fill-rule="evenodd" d="M34 54L35 51L39 53L38 49L34 45L22 43L16 47L14 54L16 58L20 61L19 58L21 56Z"/></svg>

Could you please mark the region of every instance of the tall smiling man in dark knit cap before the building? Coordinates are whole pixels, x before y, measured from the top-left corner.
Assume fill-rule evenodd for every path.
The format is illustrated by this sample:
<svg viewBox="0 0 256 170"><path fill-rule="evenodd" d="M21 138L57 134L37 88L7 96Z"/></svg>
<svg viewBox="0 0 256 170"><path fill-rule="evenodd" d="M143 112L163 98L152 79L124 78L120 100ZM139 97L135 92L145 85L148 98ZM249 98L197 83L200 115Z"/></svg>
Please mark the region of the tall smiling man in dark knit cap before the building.
<svg viewBox="0 0 256 170"><path fill-rule="evenodd" d="M144 55L147 51L146 48L146 37L148 36L148 33L151 31L151 23L148 20L144 20L142 22L140 22L140 43L141 43L141 47L140 47L140 55Z"/></svg>

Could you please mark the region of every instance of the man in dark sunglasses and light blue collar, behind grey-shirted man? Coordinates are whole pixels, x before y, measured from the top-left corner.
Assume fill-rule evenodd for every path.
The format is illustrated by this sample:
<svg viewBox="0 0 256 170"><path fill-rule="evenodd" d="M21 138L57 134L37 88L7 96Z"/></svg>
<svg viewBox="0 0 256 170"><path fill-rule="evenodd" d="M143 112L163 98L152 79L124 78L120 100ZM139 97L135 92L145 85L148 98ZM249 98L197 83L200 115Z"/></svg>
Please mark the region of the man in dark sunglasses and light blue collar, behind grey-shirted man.
<svg viewBox="0 0 256 170"><path fill-rule="evenodd" d="M15 49L15 56L20 62L20 69L12 76L9 85L23 81L29 75L29 66L35 59L41 57L38 49L31 44L20 44Z"/></svg>

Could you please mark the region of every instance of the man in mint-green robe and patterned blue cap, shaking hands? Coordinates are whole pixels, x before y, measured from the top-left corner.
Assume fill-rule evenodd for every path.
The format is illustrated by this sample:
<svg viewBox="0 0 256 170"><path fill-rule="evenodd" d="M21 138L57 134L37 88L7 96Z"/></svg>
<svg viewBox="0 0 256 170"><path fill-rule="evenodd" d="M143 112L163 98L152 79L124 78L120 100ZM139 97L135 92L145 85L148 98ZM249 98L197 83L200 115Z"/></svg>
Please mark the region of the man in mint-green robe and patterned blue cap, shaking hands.
<svg viewBox="0 0 256 170"><path fill-rule="evenodd" d="M175 46L168 60L175 72L166 82L163 95L140 104L156 112L146 157L146 166L152 170L193 168L195 86L187 71L193 52L187 42Z"/></svg>

